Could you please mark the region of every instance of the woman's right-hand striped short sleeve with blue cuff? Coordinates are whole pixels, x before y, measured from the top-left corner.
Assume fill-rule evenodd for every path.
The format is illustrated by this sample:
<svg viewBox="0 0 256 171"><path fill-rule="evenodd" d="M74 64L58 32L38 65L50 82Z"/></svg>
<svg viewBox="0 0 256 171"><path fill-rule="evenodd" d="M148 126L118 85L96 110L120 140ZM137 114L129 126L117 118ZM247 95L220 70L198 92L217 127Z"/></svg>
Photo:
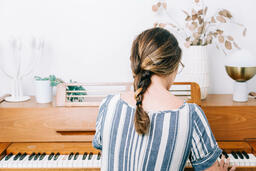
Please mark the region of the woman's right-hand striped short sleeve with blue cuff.
<svg viewBox="0 0 256 171"><path fill-rule="evenodd" d="M195 170L205 170L216 162L222 150L218 147L203 110L197 104L194 105L192 120L190 161Z"/></svg>

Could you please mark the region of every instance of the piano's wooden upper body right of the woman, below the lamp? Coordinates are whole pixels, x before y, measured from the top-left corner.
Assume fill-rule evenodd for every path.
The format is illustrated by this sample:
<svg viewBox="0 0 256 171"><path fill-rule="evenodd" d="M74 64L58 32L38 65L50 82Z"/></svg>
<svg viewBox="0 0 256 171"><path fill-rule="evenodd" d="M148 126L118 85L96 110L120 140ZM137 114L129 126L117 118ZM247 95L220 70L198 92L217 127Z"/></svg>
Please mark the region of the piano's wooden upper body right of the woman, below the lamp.
<svg viewBox="0 0 256 171"><path fill-rule="evenodd" d="M256 99L239 103L231 94L209 94L201 104L218 141L256 138Z"/></svg>

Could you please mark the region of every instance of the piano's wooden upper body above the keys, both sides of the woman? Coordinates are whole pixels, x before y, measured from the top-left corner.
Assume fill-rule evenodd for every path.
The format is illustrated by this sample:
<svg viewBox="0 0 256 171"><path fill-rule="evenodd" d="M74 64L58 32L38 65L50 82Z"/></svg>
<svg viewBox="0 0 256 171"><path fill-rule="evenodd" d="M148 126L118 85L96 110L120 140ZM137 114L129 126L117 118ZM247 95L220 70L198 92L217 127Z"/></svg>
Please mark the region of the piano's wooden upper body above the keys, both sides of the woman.
<svg viewBox="0 0 256 171"><path fill-rule="evenodd" d="M256 138L256 99L238 103L232 95L209 94L202 101L218 141ZM32 100L0 104L0 142L91 141L98 106L55 107Z"/></svg>

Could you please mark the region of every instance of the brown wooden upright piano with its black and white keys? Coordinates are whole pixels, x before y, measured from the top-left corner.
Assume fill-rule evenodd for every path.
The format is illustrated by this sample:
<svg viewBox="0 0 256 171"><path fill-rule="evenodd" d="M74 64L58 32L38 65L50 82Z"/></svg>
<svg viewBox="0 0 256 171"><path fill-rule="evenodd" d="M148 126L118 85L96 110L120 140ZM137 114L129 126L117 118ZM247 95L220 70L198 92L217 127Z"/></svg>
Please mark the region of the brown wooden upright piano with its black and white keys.
<svg viewBox="0 0 256 171"><path fill-rule="evenodd" d="M175 85L186 87L186 90L173 89L177 96L201 105L219 146L230 157L237 157L232 158L232 164L239 165L237 170L256 170L256 100L235 103L231 95L209 95L201 102L196 83ZM57 93L58 99L66 96ZM22 103L2 102L0 171L100 170L100 151L92 147L91 141L102 98L90 94L84 97L93 100L87 98L83 106L75 107L65 101L38 104L34 98ZM189 162L186 169L191 170Z"/></svg>

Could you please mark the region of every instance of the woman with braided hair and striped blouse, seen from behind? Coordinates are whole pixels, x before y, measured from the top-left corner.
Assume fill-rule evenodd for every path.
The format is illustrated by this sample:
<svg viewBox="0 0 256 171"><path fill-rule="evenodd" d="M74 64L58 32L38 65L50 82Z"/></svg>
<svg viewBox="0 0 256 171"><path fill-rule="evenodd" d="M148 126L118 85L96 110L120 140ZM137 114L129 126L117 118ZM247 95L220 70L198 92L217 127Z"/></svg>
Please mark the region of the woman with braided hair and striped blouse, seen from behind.
<svg viewBox="0 0 256 171"><path fill-rule="evenodd" d="M228 170L202 109L169 92L181 64L176 38L146 30L130 61L134 92L109 95L100 106L93 146L102 150L102 170L177 171L187 159L195 170Z"/></svg>

